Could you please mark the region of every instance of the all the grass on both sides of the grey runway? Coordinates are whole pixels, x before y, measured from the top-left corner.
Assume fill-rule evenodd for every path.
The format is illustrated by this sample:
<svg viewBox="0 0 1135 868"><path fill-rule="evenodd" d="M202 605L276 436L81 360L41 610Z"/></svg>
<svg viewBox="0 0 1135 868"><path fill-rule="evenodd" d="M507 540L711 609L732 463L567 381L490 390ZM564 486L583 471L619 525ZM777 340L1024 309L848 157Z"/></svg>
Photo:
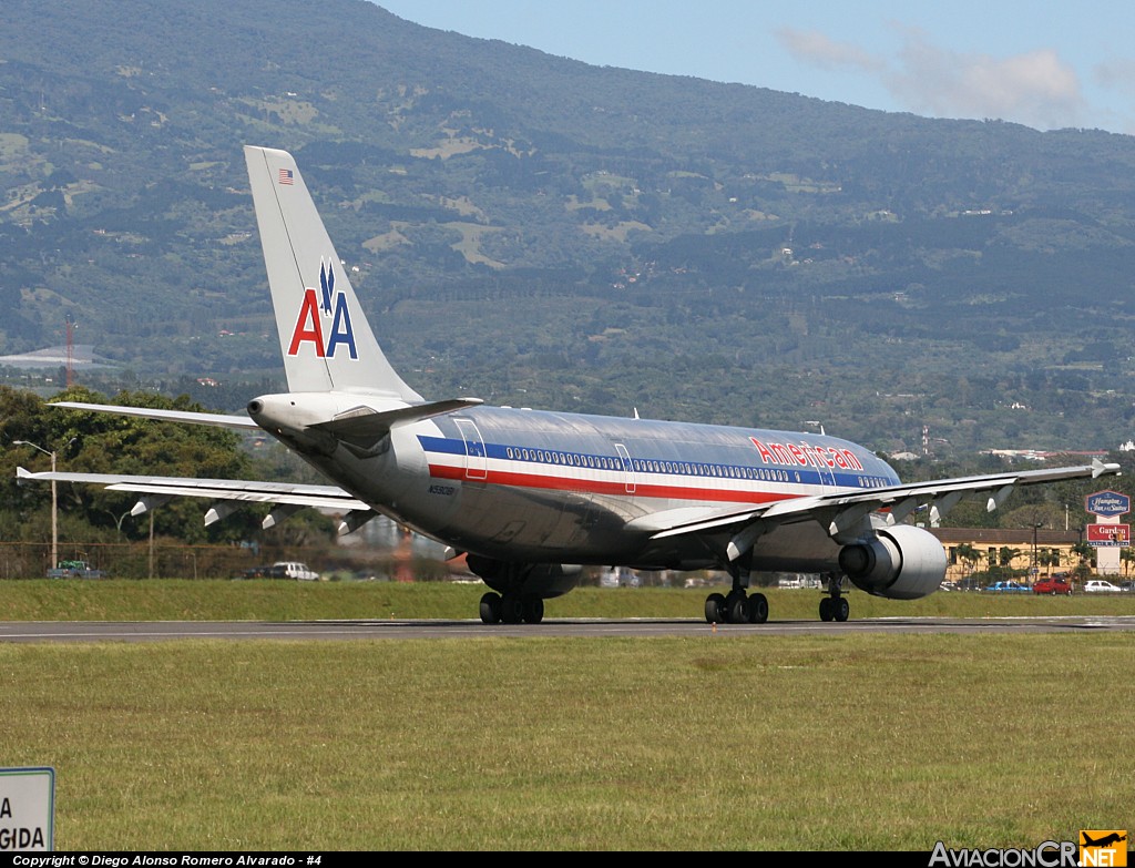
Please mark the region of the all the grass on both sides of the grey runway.
<svg viewBox="0 0 1135 868"><path fill-rule="evenodd" d="M471 617L481 591L3 582L0 616ZM773 620L816 617L816 592L770 597ZM703 598L580 589L547 617L693 617ZM1091 630L0 644L0 765L56 768L61 850L1032 848L1135 825L1133 663L1135 633Z"/></svg>

